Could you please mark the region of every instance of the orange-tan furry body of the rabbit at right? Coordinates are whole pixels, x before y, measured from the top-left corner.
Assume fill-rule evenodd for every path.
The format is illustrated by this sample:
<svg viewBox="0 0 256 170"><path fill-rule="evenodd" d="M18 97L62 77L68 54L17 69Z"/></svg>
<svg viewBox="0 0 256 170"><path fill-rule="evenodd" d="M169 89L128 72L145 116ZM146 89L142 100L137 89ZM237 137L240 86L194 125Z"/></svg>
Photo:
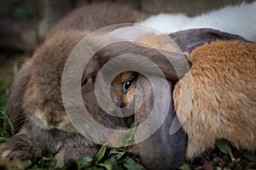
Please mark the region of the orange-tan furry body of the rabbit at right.
<svg viewBox="0 0 256 170"><path fill-rule="evenodd" d="M177 116L188 133L187 157L198 156L217 139L256 150L256 43L206 43L195 48L191 61L191 75L173 92Z"/></svg>

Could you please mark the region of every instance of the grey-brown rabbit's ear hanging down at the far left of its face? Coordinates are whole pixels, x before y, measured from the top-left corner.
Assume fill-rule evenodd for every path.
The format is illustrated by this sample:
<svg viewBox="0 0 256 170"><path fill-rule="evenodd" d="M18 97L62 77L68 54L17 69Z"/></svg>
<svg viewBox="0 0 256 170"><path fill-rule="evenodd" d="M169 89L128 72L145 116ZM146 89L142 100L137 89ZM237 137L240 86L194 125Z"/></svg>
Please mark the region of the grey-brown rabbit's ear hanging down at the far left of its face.
<svg viewBox="0 0 256 170"><path fill-rule="evenodd" d="M20 68L20 71L15 77L15 82L11 88L11 94L8 101L8 115L15 128L15 133L20 129L25 121L24 110L22 109L23 96L26 92L26 84L31 75L31 61L27 60ZM10 129L9 129L10 130Z"/></svg>

